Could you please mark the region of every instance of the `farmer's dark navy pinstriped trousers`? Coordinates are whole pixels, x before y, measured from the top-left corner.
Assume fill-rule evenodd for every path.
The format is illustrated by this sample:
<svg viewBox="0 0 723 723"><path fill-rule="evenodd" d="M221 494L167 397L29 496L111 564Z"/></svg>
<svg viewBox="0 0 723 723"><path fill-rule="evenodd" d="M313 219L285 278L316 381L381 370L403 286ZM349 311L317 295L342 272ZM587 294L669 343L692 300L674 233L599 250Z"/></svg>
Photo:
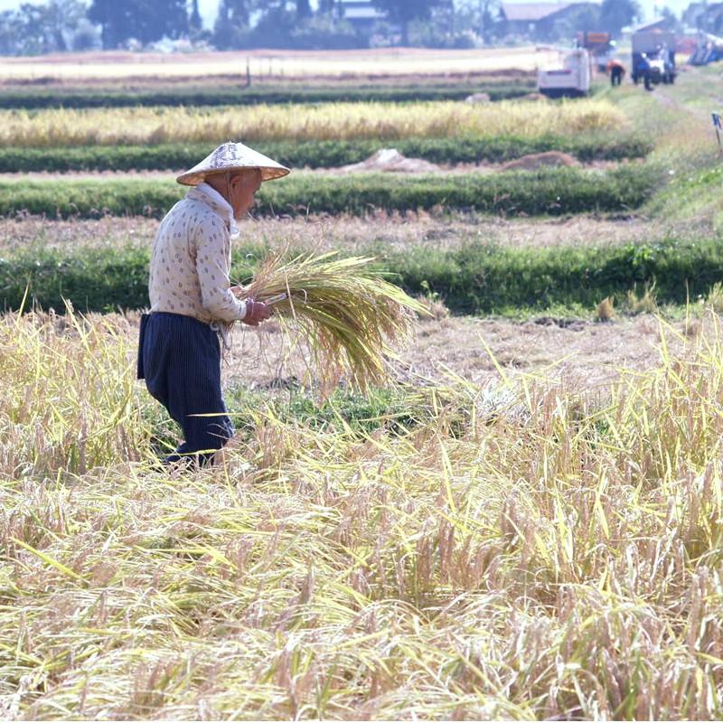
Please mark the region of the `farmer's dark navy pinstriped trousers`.
<svg viewBox="0 0 723 723"><path fill-rule="evenodd" d="M218 333L192 316L155 312L143 324L138 351L139 378L145 377L148 391L168 409L185 437L164 461L211 463L213 453L234 432L221 396Z"/></svg>

